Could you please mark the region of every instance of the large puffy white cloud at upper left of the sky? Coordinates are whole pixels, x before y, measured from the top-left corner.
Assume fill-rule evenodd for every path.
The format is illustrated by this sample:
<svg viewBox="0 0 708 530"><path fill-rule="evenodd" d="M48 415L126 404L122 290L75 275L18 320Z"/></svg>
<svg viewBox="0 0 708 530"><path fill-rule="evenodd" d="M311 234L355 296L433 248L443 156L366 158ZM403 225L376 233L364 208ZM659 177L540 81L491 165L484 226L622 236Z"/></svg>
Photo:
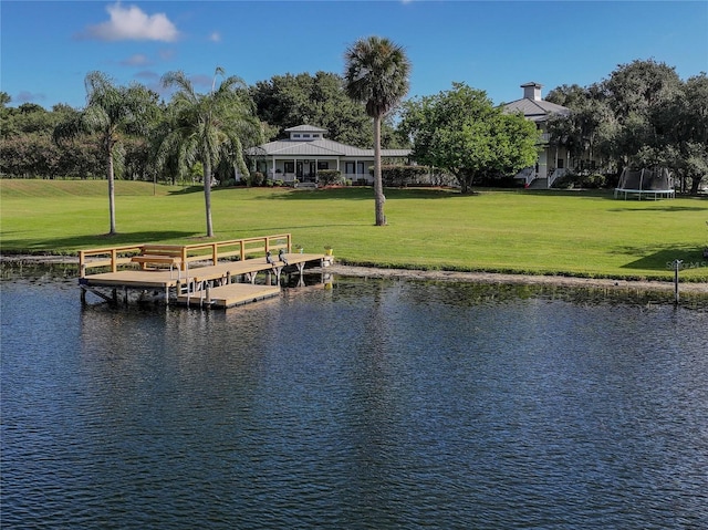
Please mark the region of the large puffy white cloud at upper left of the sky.
<svg viewBox="0 0 708 530"><path fill-rule="evenodd" d="M165 13L146 14L136 6L124 8L121 2L106 8L111 20L90 25L86 35L103 41L174 42L179 31Z"/></svg>

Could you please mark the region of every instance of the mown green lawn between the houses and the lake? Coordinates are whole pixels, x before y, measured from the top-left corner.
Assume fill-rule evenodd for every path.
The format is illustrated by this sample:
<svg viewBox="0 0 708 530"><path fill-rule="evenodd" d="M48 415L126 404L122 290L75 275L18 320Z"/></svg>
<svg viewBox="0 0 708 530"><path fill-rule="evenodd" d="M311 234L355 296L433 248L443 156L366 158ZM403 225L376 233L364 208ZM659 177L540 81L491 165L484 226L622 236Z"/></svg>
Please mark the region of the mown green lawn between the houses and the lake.
<svg viewBox="0 0 708 530"><path fill-rule="evenodd" d="M118 181L119 233L105 181L0 180L3 252L73 253L124 243L188 243L205 233L199 188ZM154 195L155 193L155 195ZM421 269L708 281L708 200L614 199L612 193L437 189L386 191L375 227L369 188L228 188L212 193L216 239L291 232L305 251L348 263Z"/></svg>

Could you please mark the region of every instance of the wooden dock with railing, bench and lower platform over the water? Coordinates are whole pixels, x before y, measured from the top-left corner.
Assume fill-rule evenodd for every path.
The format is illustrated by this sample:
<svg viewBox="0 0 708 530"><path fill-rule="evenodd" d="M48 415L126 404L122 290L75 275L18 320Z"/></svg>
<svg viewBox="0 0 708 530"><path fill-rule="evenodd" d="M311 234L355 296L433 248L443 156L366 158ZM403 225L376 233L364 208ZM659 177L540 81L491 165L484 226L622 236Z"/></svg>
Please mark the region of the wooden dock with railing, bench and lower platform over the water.
<svg viewBox="0 0 708 530"><path fill-rule="evenodd" d="M165 303L171 300L201 308L230 308L275 297L280 293L283 272L290 270L302 276L308 266L332 262L332 257L326 254L291 252L290 241L287 233L215 243L159 246L164 253L155 259L147 253L155 251L154 245L83 250L79 254L82 301L85 302L86 292L93 292L117 303L122 291L127 303L128 293L139 291L144 299L162 298ZM165 253L169 258L165 258ZM88 273L98 268L110 271ZM266 273L263 283L256 282L259 273ZM104 292L106 288L110 293Z"/></svg>

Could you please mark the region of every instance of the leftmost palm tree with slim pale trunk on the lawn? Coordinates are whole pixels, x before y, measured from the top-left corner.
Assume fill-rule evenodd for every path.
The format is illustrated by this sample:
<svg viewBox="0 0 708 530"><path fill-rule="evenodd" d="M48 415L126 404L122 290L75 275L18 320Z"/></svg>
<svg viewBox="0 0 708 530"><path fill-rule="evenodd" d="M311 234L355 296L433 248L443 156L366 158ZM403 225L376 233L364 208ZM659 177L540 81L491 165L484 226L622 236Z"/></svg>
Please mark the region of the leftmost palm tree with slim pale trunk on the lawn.
<svg viewBox="0 0 708 530"><path fill-rule="evenodd" d="M121 141L124 134L144 132L154 98L143 85L116 86L103 72L90 72L84 80L86 106L54 128L54 141L96 135L103 152L108 179L110 236L115 229L115 166L122 162Z"/></svg>

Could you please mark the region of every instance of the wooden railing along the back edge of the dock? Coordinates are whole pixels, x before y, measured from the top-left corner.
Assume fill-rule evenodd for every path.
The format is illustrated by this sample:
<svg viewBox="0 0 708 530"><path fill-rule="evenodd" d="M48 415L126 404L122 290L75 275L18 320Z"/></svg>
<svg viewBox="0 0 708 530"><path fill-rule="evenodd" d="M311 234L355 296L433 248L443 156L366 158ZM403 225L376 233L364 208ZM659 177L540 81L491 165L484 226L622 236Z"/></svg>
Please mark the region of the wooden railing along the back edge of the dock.
<svg viewBox="0 0 708 530"><path fill-rule="evenodd" d="M79 251L79 277L85 278L88 269L110 268L111 272L117 272L123 266L135 264L132 257L139 256L149 245L126 245L100 249ZM164 246L168 247L168 246ZM283 249L292 250L292 236L278 233L274 236L260 236L228 241L214 241L196 245L175 245L175 250L181 252L179 268L188 270L189 263L211 261L217 264L219 260L246 260L249 258L266 256L267 252L277 252Z"/></svg>

